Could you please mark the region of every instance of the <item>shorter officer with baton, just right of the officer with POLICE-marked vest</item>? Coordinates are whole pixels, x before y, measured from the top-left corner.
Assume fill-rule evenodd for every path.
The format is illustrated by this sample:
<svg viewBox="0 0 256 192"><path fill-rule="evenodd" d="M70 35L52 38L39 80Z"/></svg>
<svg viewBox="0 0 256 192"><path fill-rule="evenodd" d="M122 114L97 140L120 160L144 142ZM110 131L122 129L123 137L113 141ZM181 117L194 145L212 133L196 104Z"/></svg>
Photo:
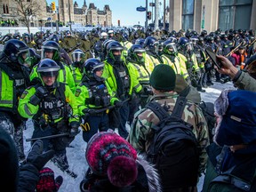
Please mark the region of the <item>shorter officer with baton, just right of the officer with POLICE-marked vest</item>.
<svg viewBox="0 0 256 192"><path fill-rule="evenodd" d="M79 114L84 116L83 139L88 142L92 135L107 131L109 107L122 103L112 97L113 92L102 76L104 63L97 59L84 62L84 76L82 83L76 87L76 100Z"/></svg>

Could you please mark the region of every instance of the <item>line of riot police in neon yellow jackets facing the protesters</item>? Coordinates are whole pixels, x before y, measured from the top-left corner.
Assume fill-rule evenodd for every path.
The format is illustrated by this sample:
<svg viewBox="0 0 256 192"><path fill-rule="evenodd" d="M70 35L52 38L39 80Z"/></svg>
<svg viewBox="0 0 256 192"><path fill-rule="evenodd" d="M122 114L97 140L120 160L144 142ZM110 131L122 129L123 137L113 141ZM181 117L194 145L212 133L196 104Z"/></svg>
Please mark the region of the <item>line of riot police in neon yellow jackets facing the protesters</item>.
<svg viewBox="0 0 256 192"><path fill-rule="evenodd" d="M212 63L205 46L224 55L236 46L226 39L227 34L220 39L217 32L213 37L205 31L200 36L195 31L183 35L172 31L169 36L150 34L145 39L139 32L113 36L109 30L108 34L101 32L98 40L93 38L93 43L83 34L81 39L89 46L67 32L61 47L56 34L44 43L38 35L36 42L42 44L36 43L36 51L28 47L31 42L25 43L27 38L5 42L0 61L0 124L13 136L20 161L25 157L23 130L28 118L34 124L32 138L67 133L44 140L44 148L53 148L52 161L68 169L66 148L80 125L86 142L98 130L108 128L118 128L127 138L126 123L132 122L152 94L149 76L157 64L170 65L197 91L205 92L202 87L212 85ZM218 74L216 80L220 80Z"/></svg>

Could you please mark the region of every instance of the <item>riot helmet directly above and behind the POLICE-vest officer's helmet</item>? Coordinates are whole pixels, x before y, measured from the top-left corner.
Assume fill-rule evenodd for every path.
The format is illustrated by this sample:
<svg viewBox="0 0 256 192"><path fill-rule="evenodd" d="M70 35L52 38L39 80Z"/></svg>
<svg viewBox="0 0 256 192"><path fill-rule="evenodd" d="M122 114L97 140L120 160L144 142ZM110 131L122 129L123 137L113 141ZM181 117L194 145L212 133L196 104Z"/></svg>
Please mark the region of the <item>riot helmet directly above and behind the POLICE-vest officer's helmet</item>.
<svg viewBox="0 0 256 192"><path fill-rule="evenodd" d="M48 59L52 59L55 61L60 60L60 45L57 44L55 41L46 41L42 45L42 55L41 55L42 59L46 58L45 52L52 52L52 58L48 58Z"/></svg>

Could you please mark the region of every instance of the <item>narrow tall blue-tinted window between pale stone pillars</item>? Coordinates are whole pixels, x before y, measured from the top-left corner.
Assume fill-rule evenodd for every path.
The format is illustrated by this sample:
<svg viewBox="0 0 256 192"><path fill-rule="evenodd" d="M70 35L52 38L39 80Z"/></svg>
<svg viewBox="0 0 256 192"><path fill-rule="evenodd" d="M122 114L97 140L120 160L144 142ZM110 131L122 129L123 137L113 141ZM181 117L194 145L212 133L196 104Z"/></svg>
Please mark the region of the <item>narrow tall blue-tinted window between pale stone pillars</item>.
<svg viewBox="0 0 256 192"><path fill-rule="evenodd" d="M194 0L182 0L182 28L194 26Z"/></svg>

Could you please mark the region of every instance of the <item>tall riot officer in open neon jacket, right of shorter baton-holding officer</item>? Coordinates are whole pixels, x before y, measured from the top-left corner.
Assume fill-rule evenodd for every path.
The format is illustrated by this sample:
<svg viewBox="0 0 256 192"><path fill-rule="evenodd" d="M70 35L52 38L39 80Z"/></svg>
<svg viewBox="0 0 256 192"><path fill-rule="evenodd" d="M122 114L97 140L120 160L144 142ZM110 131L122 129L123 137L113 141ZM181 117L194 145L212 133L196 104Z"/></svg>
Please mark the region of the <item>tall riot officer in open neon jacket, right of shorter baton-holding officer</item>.
<svg viewBox="0 0 256 192"><path fill-rule="evenodd" d="M124 101L124 105L119 108L116 113L112 113L110 116L115 115L113 120L109 121L111 128L118 128L120 136L126 138L128 132L126 131L126 122L129 116L129 103L128 100L132 96L132 92L140 92L142 87L138 80L132 76L132 71L126 66L122 58L122 52L124 47L116 42L110 42L108 44L107 59L104 61L103 77L106 78L111 90L116 93L116 97L119 100ZM120 122L117 122L120 120Z"/></svg>

